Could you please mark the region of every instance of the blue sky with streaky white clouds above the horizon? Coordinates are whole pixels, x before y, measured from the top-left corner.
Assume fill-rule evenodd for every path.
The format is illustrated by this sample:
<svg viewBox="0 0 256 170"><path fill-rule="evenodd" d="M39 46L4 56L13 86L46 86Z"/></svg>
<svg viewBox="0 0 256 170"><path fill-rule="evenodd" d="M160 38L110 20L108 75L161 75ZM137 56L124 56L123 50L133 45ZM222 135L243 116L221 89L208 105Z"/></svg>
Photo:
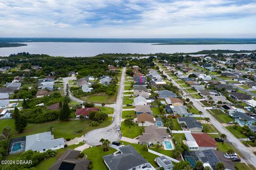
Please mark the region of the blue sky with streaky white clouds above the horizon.
<svg viewBox="0 0 256 170"><path fill-rule="evenodd" d="M256 0L0 0L0 37L256 38Z"/></svg>

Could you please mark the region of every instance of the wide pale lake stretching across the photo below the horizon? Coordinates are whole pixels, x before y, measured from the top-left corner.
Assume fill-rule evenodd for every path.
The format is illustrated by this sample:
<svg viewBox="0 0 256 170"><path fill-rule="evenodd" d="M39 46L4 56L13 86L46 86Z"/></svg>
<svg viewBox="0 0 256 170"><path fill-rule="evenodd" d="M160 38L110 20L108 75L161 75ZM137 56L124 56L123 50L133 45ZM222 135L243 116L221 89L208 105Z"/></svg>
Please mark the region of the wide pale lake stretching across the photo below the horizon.
<svg viewBox="0 0 256 170"><path fill-rule="evenodd" d="M192 53L201 50L229 49L255 50L256 44L222 45L152 45L150 43L25 43L27 46L0 48L0 56L9 56L20 52L30 54L48 54L51 56L89 57L102 53Z"/></svg>

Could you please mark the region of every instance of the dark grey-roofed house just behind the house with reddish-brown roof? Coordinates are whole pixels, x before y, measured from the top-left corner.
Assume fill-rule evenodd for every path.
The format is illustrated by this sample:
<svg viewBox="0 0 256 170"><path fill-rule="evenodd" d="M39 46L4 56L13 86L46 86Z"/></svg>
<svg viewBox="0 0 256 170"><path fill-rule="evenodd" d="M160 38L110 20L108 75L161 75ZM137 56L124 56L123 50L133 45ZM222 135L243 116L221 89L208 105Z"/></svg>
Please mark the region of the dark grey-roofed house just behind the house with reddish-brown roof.
<svg viewBox="0 0 256 170"><path fill-rule="evenodd" d="M191 132L202 132L203 126L200 122L197 122L194 117L179 117L178 123L185 123L187 129Z"/></svg>

